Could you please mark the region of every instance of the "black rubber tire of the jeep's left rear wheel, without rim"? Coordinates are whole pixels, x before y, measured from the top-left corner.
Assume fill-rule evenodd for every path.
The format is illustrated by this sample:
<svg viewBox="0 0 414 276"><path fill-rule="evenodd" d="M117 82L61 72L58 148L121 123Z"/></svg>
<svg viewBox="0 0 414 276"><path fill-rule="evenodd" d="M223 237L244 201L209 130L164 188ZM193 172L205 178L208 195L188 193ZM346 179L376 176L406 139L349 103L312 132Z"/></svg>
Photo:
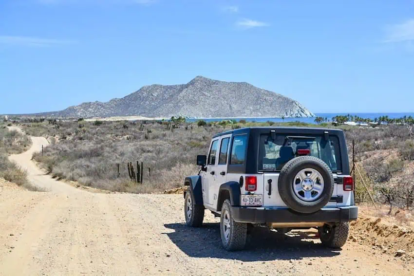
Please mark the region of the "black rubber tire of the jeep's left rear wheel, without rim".
<svg viewBox="0 0 414 276"><path fill-rule="evenodd" d="M229 220L229 238L226 240L223 221L226 214ZM223 202L221 217L220 217L220 236L222 239L222 245L227 251L237 251L245 248L247 239L247 223L236 222L233 220L233 214L231 212L231 203L229 200Z"/></svg>

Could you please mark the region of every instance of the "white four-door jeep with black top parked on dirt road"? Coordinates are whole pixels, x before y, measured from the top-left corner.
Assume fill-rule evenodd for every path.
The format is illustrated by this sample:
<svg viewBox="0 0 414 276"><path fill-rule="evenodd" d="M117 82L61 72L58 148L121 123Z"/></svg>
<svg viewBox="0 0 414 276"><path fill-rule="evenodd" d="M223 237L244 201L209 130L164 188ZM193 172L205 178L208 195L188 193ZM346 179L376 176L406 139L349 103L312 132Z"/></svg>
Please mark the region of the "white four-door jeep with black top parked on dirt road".
<svg viewBox="0 0 414 276"><path fill-rule="evenodd" d="M202 226L205 209L220 217L226 250L245 247L247 228L286 233L315 227L342 247L358 217L345 136L339 129L244 128L215 135L199 175L187 177L184 213Z"/></svg>

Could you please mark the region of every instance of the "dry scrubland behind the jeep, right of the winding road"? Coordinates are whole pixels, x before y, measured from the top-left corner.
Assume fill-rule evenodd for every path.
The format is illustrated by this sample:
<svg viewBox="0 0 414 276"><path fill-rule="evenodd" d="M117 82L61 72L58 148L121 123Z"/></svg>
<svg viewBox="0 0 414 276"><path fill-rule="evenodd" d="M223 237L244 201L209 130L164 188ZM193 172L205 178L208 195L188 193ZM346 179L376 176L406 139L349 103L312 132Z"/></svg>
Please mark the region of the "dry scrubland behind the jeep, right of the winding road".
<svg viewBox="0 0 414 276"><path fill-rule="evenodd" d="M44 155L37 153L34 159L55 177L132 193L163 192L182 186L185 176L198 172L196 155L206 154L211 137L228 129L251 126L340 128L345 131L351 166L352 141L355 141L356 201L370 202L370 193L376 203L389 206L390 214L394 208L413 208L414 135L410 124L387 122L358 127L244 120L187 123L184 118L136 122L30 119L21 123L28 134L45 136L51 142ZM127 164L132 162L136 170L136 161L144 165L143 184L131 181L129 176Z"/></svg>

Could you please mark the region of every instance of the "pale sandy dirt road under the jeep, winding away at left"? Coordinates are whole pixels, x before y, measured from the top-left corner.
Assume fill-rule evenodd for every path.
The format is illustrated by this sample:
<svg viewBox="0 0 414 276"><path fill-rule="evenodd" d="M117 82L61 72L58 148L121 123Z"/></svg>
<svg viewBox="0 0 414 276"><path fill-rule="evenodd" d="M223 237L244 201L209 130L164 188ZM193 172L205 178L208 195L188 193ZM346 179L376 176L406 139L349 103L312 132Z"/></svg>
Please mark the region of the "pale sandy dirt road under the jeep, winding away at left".
<svg viewBox="0 0 414 276"><path fill-rule="evenodd" d="M218 219L184 225L182 195L101 194L44 175L33 137L11 156L48 192L0 184L0 275L414 275L414 267L348 242L320 245L315 231L289 236L256 229L243 252L220 247Z"/></svg>

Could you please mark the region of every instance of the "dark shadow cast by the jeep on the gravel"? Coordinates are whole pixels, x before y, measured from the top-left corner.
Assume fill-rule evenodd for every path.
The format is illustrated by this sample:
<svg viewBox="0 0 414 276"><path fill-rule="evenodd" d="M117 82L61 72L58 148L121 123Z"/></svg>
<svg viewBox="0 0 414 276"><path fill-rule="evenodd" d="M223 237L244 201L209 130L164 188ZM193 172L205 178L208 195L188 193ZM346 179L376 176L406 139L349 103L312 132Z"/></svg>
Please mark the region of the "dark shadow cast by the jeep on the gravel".
<svg viewBox="0 0 414 276"><path fill-rule="evenodd" d="M267 228L255 227L248 235L245 250L227 252L221 246L220 224L204 223L200 228L191 228L184 223L164 224L175 230L168 235L185 254L194 258L223 258L241 261L266 261L277 259L301 259L312 257L334 257L340 254L314 243L315 232L308 230L280 234ZM311 236L308 236L311 235ZM313 236L312 236L313 235Z"/></svg>

